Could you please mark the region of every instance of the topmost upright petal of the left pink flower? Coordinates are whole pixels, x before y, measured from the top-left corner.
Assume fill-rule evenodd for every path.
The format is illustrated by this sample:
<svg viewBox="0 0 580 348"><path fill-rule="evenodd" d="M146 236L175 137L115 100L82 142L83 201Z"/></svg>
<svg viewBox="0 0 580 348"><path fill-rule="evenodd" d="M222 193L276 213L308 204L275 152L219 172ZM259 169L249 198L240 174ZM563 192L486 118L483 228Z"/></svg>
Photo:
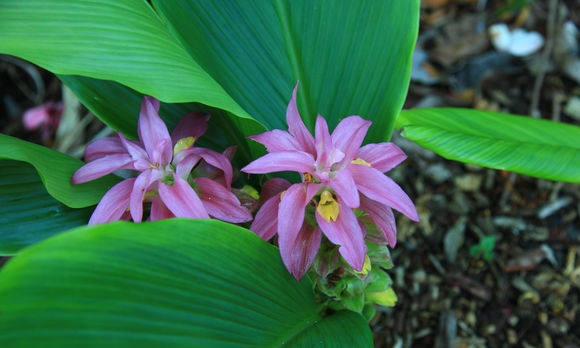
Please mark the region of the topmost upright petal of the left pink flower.
<svg viewBox="0 0 580 348"><path fill-rule="evenodd" d="M171 161L173 148L167 126L159 117L159 107L159 100L144 96L137 129L151 161L163 165Z"/></svg>

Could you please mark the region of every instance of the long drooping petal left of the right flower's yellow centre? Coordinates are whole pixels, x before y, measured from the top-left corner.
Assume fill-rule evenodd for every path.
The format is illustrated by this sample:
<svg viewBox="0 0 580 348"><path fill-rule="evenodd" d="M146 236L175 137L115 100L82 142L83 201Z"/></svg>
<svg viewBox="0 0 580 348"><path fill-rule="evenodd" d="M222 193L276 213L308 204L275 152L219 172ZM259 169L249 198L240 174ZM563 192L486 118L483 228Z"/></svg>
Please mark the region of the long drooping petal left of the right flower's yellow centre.
<svg viewBox="0 0 580 348"><path fill-rule="evenodd" d="M278 209L278 246L282 261L288 270L293 270L292 249L304 222L307 184L294 184L286 190Z"/></svg>

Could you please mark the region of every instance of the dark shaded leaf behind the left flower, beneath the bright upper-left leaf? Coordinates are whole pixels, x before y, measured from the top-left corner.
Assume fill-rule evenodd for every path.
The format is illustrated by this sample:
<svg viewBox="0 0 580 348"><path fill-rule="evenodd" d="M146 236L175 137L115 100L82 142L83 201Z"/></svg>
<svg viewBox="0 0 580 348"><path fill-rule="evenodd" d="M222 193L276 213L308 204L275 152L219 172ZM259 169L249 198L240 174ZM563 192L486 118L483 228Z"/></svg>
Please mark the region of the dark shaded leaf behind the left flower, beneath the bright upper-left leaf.
<svg viewBox="0 0 580 348"><path fill-rule="evenodd" d="M77 95L81 102L99 119L115 130L137 139L137 119L143 94L113 81L89 77L61 75L60 79ZM258 122L238 118L220 109L197 103L162 103L160 115L169 129L188 112L203 111L212 115L209 129L196 141L197 146L223 151L236 145L236 160L244 165L263 152L263 147L246 139L246 135L265 131Z"/></svg>

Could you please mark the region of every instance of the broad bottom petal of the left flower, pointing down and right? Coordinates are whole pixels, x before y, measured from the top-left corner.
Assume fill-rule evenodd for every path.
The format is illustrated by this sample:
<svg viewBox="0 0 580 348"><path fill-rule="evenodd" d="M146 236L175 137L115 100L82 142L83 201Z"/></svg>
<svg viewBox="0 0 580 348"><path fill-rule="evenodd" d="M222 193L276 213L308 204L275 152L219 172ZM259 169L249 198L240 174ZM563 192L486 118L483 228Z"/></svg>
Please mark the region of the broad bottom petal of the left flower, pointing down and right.
<svg viewBox="0 0 580 348"><path fill-rule="evenodd" d="M201 200L189 184L173 173L173 185L159 182L159 195L163 203L177 217L209 219Z"/></svg>

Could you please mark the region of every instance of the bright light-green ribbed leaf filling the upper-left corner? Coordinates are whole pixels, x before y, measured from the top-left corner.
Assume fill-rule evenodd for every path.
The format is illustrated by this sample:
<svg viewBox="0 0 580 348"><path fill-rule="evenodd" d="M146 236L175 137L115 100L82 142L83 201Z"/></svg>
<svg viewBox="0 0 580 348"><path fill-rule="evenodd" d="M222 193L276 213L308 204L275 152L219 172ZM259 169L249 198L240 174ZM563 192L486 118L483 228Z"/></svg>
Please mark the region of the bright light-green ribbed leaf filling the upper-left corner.
<svg viewBox="0 0 580 348"><path fill-rule="evenodd" d="M0 1L0 53L54 73L112 80L166 102L249 117L143 0Z"/></svg>

